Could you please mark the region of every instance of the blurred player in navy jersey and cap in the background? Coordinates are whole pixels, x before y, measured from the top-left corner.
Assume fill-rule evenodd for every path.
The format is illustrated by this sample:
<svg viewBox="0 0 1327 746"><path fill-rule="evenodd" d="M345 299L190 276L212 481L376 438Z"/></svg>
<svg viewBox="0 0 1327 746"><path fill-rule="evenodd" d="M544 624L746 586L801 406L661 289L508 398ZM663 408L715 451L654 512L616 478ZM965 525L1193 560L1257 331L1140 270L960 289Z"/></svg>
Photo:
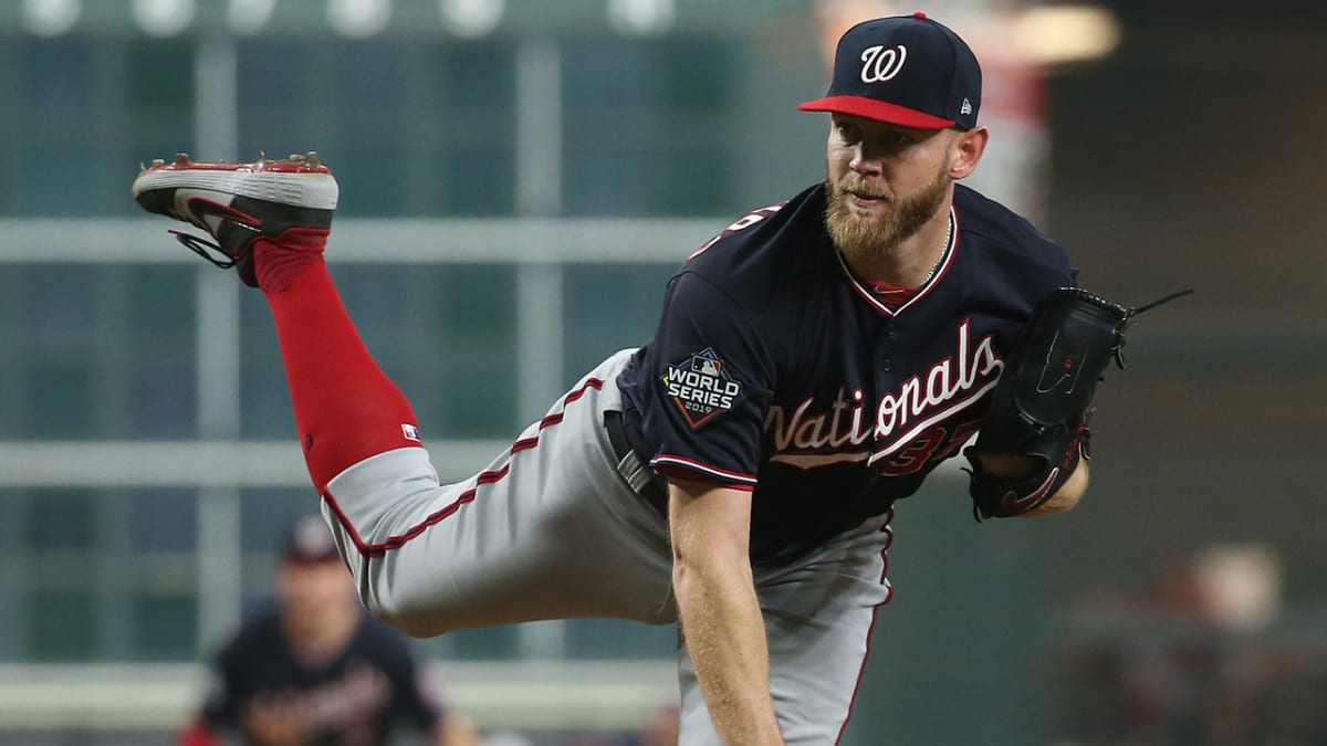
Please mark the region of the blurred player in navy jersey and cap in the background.
<svg viewBox="0 0 1327 746"><path fill-rule="evenodd" d="M478 745L462 715L443 713L403 641L364 613L321 518L295 523L277 592L218 653L180 746L382 745L402 729L438 746Z"/></svg>

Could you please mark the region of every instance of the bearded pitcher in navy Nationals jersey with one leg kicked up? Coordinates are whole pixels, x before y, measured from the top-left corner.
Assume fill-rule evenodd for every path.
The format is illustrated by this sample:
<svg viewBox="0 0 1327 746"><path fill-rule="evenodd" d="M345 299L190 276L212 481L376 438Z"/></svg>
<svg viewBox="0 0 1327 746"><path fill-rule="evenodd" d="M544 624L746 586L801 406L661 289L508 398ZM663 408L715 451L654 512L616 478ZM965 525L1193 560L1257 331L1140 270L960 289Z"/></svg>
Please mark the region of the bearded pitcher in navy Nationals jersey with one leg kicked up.
<svg viewBox="0 0 1327 746"><path fill-rule="evenodd" d="M827 178L685 260L654 336L442 485L324 264L313 154L155 162L146 210L265 296L300 447L364 604L415 636L565 617L681 623L681 742L827 745L886 580L892 506L963 445L979 518L1072 507L1092 392L1131 312L959 186L981 69L921 13L840 40ZM679 256L686 250L679 251Z"/></svg>

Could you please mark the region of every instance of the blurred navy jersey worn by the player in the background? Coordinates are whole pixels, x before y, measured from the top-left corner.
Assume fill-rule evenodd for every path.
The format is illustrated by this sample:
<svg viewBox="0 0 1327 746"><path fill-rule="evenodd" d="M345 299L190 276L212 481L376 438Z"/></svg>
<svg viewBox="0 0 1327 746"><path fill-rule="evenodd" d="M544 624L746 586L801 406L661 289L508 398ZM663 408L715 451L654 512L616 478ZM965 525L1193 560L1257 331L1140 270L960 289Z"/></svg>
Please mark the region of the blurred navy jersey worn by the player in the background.
<svg viewBox="0 0 1327 746"><path fill-rule="evenodd" d="M296 658L276 611L244 625L218 654L203 722L261 745L251 717L276 717L317 746L389 743L395 726L426 731L441 715L393 632L364 616L345 650L322 665Z"/></svg>

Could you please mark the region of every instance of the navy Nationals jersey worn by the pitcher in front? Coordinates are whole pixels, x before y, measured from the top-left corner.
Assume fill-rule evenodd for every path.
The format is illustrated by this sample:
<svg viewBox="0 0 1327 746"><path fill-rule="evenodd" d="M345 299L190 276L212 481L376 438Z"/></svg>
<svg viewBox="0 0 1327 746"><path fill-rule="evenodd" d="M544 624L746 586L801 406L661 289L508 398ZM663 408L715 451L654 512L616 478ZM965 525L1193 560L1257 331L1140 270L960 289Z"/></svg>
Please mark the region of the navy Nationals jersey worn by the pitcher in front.
<svg viewBox="0 0 1327 746"><path fill-rule="evenodd" d="M835 250L825 199L808 188L693 254L618 380L656 473L752 491L758 563L916 492L978 430L1036 304L1075 283L1063 248L957 186L937 269L890 308Z"/></svg>

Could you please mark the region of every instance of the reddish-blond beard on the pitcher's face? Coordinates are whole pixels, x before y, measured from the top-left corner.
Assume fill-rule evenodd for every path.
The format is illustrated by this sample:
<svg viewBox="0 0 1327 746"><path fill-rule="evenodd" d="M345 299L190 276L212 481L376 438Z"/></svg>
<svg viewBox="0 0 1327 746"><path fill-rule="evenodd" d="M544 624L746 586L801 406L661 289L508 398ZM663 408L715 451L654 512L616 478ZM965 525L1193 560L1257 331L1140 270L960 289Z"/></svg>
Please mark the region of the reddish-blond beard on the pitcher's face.
<svg viewBox="0 0 1327 746"><path fill-rule="evenodd" d="M848 204L848 200L852 199L848 191L876 196L878 195L876 190L867 187L852 173L837 186L825 178L825 191L829 198L829 204L825 208L825 226L829 228L829 236L848 259L867 263L884 259L900 242L916 234L926 220L936 215L936 211L945 204L949 185L949 175L941 171L934 181L908 198L898 199L897 195L888 195L884 211L865 216L855 212Z"/></svg>

